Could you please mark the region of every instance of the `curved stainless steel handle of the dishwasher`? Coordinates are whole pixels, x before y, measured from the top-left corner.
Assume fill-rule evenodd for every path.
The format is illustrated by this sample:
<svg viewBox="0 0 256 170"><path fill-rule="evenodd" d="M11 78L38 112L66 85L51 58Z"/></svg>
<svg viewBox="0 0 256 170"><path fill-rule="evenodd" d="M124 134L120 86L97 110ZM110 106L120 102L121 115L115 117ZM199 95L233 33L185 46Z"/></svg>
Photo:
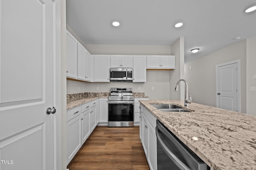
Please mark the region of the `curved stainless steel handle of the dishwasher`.
<svg viewBox="0 0 256 170"><path fill-rule="evenodd" d="M177 158L175 156L175 154L173 154L168 147L164 144L164 142L162 141L160 135L159 135L159 128L156 127L156 137L157 140L159 141L162 149L164 150L164 152L169 156L169 158L174 162L174 164L176 164L181 170L191 170L190 168L188 168L188 166L186 166L181 160L179 160L179 158Z"/></svg>

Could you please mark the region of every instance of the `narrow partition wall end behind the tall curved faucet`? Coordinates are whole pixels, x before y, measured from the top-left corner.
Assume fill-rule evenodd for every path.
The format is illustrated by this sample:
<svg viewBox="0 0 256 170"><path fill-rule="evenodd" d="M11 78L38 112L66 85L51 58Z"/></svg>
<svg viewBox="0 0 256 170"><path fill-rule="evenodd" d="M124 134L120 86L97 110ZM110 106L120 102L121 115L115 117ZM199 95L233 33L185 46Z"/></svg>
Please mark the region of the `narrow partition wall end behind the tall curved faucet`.
<svg viewBox="0 0 256 170"><path fill-rule="evenodd" d="M184 100L184 82L180 82L178 92L174 91L178 80L184 78L184 37L172 44L172 55L175 55L175 70L170 72L170 99Z"/></svg>

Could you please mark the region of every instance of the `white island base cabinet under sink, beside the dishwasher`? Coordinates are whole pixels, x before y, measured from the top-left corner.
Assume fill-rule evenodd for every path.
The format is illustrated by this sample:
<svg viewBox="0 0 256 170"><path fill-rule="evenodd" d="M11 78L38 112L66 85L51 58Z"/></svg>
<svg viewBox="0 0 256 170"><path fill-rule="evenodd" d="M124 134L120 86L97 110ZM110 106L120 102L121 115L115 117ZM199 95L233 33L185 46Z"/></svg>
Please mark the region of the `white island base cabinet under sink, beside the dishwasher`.
<svg viewBox="0 0 256 170"><path fill-rule="evenodd" d="M151 170L157 169L156 117L140 104L140 137L148 165Z"/></svg>

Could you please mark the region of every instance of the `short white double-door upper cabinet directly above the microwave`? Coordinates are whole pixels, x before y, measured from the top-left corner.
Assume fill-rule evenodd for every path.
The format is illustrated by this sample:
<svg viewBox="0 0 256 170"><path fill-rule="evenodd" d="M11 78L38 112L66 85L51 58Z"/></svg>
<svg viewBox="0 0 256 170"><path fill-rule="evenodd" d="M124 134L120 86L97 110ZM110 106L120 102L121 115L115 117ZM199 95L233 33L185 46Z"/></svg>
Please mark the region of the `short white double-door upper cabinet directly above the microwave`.
<svg viewBox="0 0 256 170"><path fill-rule="evenodd" d="M110 57L110 67L123 67L132 68L132 55L111 55Z"/></svg>

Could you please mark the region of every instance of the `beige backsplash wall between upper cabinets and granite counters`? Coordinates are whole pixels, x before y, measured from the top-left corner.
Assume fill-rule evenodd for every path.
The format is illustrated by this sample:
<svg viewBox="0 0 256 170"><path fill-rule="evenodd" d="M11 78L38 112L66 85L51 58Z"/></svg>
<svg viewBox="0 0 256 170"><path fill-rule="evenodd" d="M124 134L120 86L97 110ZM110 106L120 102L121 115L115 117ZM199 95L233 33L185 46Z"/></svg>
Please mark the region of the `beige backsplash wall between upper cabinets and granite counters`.
<svg viewBox="0 0 256 170"><path fill-rule="evenodd" d="M67 94L84 92L110 92L111 87L129 87L133 88L133 92L144 92L146 96L149 96L150 100L169 100L170 72L172 71L147 71L146 83L90 83L67 80ZM80 87L80 90L78 90L78 87ZM99 90L96 90L96 87L99 87ZM138 90L138 87L140 87L140 90ZM152 90L152 87L154 87L154 90Z"/></svg>

